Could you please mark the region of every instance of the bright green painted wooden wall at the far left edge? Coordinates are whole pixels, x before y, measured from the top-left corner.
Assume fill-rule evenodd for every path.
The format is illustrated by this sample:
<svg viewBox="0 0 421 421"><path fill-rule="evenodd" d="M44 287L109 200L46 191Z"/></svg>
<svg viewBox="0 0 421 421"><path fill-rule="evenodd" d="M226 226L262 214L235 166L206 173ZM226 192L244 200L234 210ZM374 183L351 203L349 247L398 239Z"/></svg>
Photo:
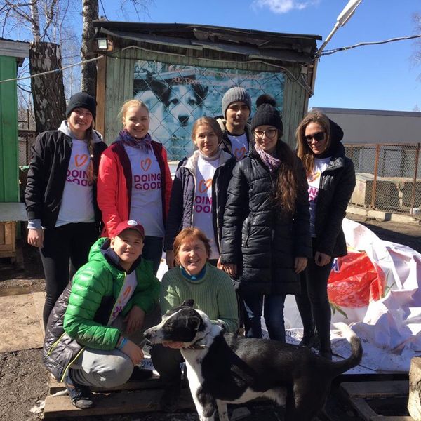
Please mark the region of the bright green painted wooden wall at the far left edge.
<svg viewBox="0 0 421 421"><path fill-rule="evenodd" d="M0 80L17 74L14 57L0 55ZM18 93L16 82L0 83L0 202L18 202Z"/></svg>

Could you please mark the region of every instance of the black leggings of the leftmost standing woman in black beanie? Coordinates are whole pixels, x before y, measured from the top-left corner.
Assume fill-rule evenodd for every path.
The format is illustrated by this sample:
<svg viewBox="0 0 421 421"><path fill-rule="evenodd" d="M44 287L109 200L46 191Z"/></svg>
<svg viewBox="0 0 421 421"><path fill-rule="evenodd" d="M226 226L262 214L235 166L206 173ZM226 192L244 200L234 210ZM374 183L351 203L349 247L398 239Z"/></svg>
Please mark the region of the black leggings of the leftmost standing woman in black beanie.
<svg viewBox="0 0 421 421"><path fill-rule="evenodd" d="M88 262L89 249L99 236L98 222L77 222L44 231L41 260L46 277L46 302L43 321L79 267Z"/></svg>

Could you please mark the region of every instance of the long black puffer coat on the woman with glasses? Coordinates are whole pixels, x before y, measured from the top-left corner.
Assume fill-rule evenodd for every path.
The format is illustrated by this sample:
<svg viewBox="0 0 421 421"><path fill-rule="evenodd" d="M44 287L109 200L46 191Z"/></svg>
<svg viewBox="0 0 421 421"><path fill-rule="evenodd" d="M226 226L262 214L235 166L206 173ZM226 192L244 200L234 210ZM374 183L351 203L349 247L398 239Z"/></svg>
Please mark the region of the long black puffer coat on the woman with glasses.
<svg viewBox="0 0 421 421"><path fill-rule="evenodd" d="M274 206L275 186L276 175L254 148L236 163L229 182L221 262L241 268L239 289L245 293L300 293L294 260L312 257L307 183L298 192L294 215Z"/></svg>

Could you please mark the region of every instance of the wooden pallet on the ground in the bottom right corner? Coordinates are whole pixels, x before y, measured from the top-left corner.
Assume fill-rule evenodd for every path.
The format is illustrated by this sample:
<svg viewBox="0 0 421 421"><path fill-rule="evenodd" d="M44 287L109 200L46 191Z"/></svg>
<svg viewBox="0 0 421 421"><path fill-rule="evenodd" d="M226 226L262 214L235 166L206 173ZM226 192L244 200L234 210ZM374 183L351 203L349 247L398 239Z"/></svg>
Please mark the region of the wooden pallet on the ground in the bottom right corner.
<svg viewBox="0 0 421 421"><path fill-rule="evenodd" d="M381 407L382 402L389 405L393 399L408 401L408 390L407 380L345 382L340 385L340 392L365 421L413 421L408 415L385 416L373 409ZM373 405L374 402L376 405Z"/></svg>

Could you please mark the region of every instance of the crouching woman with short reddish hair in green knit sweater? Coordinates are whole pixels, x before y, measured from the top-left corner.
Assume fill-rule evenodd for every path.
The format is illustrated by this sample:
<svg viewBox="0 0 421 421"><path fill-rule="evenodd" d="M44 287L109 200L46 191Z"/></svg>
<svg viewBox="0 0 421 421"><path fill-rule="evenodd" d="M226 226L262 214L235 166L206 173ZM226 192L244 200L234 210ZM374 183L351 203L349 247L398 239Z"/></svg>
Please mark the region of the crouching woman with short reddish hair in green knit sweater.
<svg viewBox="0 0 421 421"><path fill-rule="evenodd" d="M175 264L179 267L166 272L161 283L162 314L193 299L194 308L205 312L211 323L227 332L236 332L239 312L232 279L208 263L210 244L206 235L195 227L182 229L174 240ZM151 356L164 385L161 410L173 412L180 396L183 342L154 345Z"/></svg>

